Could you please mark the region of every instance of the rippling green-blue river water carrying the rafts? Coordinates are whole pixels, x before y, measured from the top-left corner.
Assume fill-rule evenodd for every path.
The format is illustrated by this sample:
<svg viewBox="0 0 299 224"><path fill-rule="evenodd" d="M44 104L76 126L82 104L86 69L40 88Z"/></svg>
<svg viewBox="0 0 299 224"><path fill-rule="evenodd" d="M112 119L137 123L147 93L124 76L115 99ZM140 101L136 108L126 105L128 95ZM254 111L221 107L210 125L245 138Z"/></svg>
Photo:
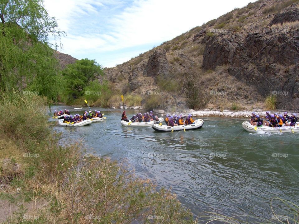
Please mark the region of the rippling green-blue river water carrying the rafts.
<svg viewBox="0 0 299 224"><path fill-rule="evenodd" d="M51 111L55 109L60 108ZM88 110L61 109L71 114ZM244 118L211 117L202 118L205 123L198 130L160 133L121 126L119 109L92 109L101 110L107 120L77 128L56 124L62 141L82 141L90 153L125 158L138 176L171 187L194 217L207 211L272 218L274 197L299 205L299 133L251 134L241 126ZM126 111L129 118L137 113ZM281 206L274 209L289 215Z"/></svg>

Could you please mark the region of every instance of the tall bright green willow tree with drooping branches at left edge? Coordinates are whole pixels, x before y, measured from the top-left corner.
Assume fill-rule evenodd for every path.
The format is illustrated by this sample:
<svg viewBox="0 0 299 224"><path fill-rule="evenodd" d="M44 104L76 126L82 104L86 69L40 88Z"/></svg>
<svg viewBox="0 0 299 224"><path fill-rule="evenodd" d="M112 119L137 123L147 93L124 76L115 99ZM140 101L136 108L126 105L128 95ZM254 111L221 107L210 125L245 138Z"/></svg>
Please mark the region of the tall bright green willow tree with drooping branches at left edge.
<svg viewBox="0 0 299 224"><path fill-rule="evenodd" d="M57 97L58 62L49 46L63 35L41 0L0 0L0 88ZM58 44L54 44L58 47Z"/></svg>

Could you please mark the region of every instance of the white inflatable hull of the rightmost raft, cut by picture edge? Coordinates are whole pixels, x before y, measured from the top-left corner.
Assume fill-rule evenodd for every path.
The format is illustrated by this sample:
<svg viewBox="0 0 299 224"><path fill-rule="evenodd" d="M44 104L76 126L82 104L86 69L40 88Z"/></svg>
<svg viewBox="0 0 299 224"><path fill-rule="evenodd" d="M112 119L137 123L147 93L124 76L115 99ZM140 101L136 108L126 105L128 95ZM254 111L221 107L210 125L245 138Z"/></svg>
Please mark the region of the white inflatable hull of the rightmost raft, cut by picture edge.
<svg viewBox="0 0 299 224"><path fill-rule="evenodd" d="M279 127L274 127L273 128L273 127L269 127L269 126L256 127L254 125L251 125L250 122L244 121L242 123L242 127L245 129L245 131L252 132L252 133L258 133L258 132L280 133L280 131L281 132L292 133L292 130L293 130L293 132L299 132L299 125L295 125L295 127L282 126L279 129ZM256 128L256 130L255 130L255 128Z"/></svg>

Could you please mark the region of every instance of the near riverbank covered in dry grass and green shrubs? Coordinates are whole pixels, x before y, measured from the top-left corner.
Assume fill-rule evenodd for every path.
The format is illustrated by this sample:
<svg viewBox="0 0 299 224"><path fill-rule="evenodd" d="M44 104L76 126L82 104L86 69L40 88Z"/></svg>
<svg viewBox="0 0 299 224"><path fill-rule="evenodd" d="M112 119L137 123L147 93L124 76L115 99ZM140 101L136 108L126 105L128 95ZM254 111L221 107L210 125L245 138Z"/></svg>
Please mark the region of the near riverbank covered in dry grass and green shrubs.
<svg viewBox="0 0 299 224"><path fill-rule="evenodd" d="M0 119L1 223L194 223L175 194L137 177L126 161L59 144L44 102L0 94L0 113L11 118Z"/></svg>

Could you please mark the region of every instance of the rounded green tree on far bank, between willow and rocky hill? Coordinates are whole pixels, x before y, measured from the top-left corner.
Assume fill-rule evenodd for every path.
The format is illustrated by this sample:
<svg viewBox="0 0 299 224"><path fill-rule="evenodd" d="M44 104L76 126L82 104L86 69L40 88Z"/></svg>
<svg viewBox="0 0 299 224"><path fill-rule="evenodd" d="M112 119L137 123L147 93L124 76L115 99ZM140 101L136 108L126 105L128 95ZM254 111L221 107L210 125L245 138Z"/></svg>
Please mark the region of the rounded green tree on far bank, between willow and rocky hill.
<svg viewBox="0 0 299 224"><path fill-rule="evenodd" d="M67 65L62 71L65 82L64 95L72 96L74 99L83 96L84 88L103 75L102 66L94 59L85 58Z"/></svg>

